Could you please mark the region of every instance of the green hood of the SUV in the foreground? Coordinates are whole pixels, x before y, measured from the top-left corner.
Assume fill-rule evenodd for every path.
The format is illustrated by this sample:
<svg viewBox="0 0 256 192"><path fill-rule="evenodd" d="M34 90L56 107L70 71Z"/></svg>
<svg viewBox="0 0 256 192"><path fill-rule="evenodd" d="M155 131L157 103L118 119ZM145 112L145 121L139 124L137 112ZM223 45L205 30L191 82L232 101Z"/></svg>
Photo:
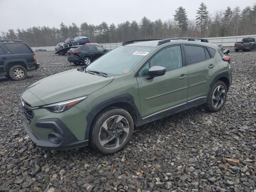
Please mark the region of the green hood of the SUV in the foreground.
<svg viewBox="0 0 256 192"><path fill-rule="evenodd" d="M74 69L46 77L28 87L28 91L45 104L52 104L89 95L108 85L113 79L114 77L102 77ZM26 91L22 98L25 97L24 94ZM25 98L24 100L26 101ZM38 103L26 102L32 106Z"/></svg>

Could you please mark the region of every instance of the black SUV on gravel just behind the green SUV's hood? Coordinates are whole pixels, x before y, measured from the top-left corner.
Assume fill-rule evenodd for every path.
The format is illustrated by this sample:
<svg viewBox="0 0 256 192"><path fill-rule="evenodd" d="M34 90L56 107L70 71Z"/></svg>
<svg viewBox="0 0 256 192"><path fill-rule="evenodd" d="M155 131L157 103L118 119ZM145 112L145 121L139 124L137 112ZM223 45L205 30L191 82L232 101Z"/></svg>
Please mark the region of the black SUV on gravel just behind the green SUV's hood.
<svg viewBox="0 0 256 192"><path fill-rule="evenodd" d="M68 51L68 61L74 64L83 63L84 65L89 65L93 60L104 55L106 52L105 48L97 44L81 45Z"/></svg>

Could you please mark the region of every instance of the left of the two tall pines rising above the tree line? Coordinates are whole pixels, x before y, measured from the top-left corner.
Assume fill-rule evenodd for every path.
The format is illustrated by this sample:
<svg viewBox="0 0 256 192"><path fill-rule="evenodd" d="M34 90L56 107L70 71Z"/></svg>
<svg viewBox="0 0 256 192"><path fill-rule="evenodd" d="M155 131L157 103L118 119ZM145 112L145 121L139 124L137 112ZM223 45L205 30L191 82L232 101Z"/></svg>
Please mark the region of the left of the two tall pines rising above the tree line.
<svg viewBox="0 0 256 192"><path fill-rule="evenodd" d="M178 7L177 10L175 10L174 20L178 22L180 36L182 36L188 29L188 16L185 8Z"/></svg>

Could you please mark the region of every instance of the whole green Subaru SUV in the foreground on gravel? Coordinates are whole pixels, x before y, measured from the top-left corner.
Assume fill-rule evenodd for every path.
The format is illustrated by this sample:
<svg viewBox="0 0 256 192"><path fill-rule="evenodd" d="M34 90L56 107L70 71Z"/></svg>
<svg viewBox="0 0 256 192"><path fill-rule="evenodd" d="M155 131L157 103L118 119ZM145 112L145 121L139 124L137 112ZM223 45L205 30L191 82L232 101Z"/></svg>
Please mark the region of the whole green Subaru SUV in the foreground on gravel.
<svg viewBox="0 0 256 192"><path fill-rule="evenodd" d="M23 125L42 148L124 148L134 126L201 104L216 112L232 81L230 58L204 39L130 41L88 66L21 94Z"/></svg>

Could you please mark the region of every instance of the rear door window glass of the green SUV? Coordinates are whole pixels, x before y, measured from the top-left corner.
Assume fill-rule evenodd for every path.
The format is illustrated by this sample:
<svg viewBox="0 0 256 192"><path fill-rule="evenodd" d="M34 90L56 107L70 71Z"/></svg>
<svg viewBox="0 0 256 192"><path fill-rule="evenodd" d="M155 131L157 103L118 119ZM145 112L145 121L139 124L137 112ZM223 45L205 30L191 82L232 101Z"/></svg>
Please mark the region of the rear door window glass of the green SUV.
<svg viewBox="0 0 256 192"><path fill-rule="evenodd" d="M189 60L189 64L202 62L206 60L204 47L185 45L184 49L185 49L186 59Z"/></svg>

